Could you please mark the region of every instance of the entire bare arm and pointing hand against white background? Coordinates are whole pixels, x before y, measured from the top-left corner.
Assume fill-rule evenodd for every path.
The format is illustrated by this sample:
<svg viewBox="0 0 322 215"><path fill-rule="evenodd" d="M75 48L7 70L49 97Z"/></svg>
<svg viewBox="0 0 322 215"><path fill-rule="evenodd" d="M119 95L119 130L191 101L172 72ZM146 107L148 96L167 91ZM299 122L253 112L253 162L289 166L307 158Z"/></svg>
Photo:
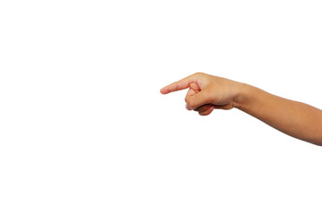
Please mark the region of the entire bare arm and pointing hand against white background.
<svg viewBox="0 0 322 215"><path fill-rule="evenodd" d="M235 107L294 138L322 146L322 110L316 107L207 73L194 73L160 92L184 89L189 89L186 108L201 116L208 116L214 109Z"/></svg>

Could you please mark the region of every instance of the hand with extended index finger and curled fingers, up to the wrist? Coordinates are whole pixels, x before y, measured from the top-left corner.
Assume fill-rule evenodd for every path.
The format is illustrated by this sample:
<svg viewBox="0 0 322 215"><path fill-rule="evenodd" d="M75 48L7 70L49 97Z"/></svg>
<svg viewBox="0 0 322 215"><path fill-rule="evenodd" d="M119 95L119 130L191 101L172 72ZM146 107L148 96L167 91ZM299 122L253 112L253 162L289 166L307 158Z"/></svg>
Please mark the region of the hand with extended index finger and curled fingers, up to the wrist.
<svg viewBox="0 0 322 215"><path fill-rule="evenodd" d="M189 88L185 97L186 108L198 111L201 116L207 116L215 108L236 107L241 87L241 82L233 82L206 73L194 73L181 81L167 85L160 92L167 94Z"/></svg>

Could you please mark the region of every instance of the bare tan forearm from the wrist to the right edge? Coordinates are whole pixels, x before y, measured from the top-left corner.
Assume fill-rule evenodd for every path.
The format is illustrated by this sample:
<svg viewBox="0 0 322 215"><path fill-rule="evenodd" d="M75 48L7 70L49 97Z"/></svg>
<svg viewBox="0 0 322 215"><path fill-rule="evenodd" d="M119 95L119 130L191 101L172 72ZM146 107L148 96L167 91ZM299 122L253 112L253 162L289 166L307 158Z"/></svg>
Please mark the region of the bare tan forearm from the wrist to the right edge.
<svg viewBox="0 0 322 215"><path fill-rule="evenodd" d="M242 84L236 107L275 129L322 145L322 110Z"/></svg>

